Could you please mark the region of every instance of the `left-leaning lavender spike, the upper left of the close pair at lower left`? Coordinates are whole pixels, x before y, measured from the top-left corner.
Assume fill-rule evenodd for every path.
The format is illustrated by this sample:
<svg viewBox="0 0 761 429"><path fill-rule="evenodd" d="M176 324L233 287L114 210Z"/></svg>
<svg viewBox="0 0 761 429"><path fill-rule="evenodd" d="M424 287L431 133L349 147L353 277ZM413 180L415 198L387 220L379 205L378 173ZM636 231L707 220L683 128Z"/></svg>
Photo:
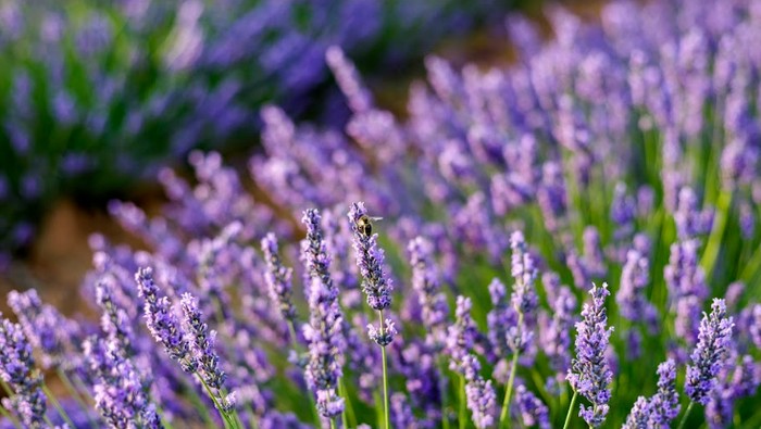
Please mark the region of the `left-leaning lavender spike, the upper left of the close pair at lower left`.
<svg viewBox="0 0 761 429"><path fill-rule="evenodd" d="M146 325L157 342L164 346L166 353L178 362L186 373L195 373L198 359L190 353L190 344L172 310L169 298L159 298L159 287L153 282L153 269L140 268L135 274L137 290L146 301L144 313Z"/></svg>

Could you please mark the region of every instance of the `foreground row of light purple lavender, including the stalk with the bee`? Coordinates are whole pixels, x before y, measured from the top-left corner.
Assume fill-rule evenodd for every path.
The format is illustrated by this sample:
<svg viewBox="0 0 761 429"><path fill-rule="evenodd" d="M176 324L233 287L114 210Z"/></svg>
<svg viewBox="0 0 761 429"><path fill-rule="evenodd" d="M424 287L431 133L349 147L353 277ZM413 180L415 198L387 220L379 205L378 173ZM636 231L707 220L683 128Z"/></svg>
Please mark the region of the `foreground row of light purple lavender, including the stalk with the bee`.
<svg viewBox="0 0 761 429"><path fill-rule="evenodd" d="M403 114L341 39L344 121L151 164L76 312L8 293L0 428L761 427L761 2L499 13Z"/></svg>

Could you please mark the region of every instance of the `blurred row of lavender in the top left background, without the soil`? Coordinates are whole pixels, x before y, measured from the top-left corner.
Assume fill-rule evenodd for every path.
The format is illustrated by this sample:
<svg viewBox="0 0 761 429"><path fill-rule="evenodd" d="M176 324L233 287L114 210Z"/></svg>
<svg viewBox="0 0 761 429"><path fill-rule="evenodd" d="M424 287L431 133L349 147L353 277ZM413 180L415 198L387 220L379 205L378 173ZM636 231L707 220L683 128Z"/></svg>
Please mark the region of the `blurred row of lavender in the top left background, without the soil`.
<svg viewBox="0 0 761 429"><path fill-rule="evenodd" d="M0 248L29 244L61 195L102 199L190 149L254 141L263 102L314 102L327 46L399 65L504 10L454 3L3 1Z"/></svg>

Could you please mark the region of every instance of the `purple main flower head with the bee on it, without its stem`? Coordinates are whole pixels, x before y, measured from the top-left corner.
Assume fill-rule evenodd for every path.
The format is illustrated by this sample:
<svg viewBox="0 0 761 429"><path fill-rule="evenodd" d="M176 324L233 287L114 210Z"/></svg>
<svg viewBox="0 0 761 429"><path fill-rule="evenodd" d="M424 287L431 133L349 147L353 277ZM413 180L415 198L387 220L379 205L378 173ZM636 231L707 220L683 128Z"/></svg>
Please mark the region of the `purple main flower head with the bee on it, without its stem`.
<svg viewBox="0 0 761 429"><path fill-rule="evenodd" d="M364 203L353 203L349 210L349 222L353 232L357 266L362 274L362 291L373 310L385 310L391 305L391 279L383 270L384 252L378 249L377 234L370 234L367 211Z"/></svg>

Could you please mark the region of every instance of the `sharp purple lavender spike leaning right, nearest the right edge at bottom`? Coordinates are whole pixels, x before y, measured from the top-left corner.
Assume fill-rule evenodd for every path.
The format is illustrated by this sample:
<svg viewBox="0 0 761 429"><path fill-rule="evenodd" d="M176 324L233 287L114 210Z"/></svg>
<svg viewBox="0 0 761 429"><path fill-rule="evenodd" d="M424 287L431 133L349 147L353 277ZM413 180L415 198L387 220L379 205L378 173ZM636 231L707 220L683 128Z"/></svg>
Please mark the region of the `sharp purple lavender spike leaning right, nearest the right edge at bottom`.
<svg viewBox="0 0 761 429"><path fill-rule="evenodd" d="M700 320L698 344L690 358L693 365L687 366L685 392L690 401L706 405L710 393L716 383L716 376L724 365L724 357L732 344L732 328L735 324L726 316L724 300L714 299L711 314L703 313Z"/></svg>

